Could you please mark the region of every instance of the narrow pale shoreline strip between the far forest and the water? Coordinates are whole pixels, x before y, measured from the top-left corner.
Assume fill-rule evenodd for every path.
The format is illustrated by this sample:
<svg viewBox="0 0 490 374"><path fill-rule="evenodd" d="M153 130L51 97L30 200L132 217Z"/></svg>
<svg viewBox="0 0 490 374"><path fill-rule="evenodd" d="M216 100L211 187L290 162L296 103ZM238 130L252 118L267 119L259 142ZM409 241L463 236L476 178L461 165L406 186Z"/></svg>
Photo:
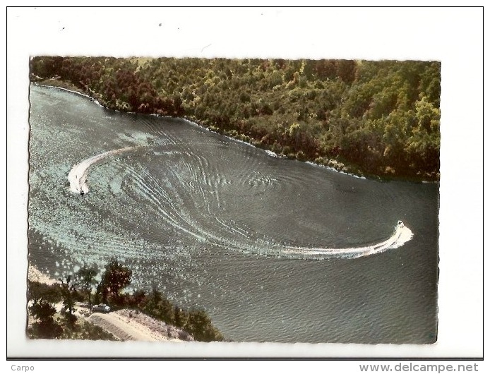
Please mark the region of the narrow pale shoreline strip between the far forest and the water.
<svg viewBox="0 0 490 374"><path fill-rule="evenodd" d="M30 83L32 83L34 85L39 85L41 87L57 88L59 90L64 90L66 92L75 93L75 94L78 94L78 95L81 95L83 97L90 99L92 102L94 102L95 104L97 104L98 106L100 106L104 109L119 111L117 109L111 109L109 107L104 107L104 105L101 104L99 101L97 101L97 99L95 97L90 96L88 93L86 93L82 89L77 88L75 85L73 85L69 82L66 82L64 80L56 80L56 79L47 78L47 79L41 79L41 80L30 80ZM126 111L126 113L142 114L142 113L138 113L136 111ZM268 155L270 155L269 152L273 152L273 151L268 150L266 148L258 147L257 145L254 145L253 143L249 143L249 142L246 142L244 140L241 140L240 138L234 138L232 135L227 134L226 131L225 132L215 131L213 126L210 126L210 127L204 126L202 123L199 123L196 118L193 118L193 116L184 115L181 117L174 117L174 116L162 116L162 115L156 114L156 113L142 114L142 115L157 116L158 118L182 119L188 123L191 123L195 126L198 126L199 128L203 128L206 131L211 131L213 133L223 135L229 139L235 140L239 143L244 143L246 145L250 145L251 147L256 147L258 149L261 149L261 150L267 152ZM242 134L239 134L239 135L242 135ZM253 139L251 139L251 140L253 140ZM287 157L287 155L283 155L283 154L279 154L279 155L275 154L275 156L273 156L273 155L270 155L270 156L289 159L289 157ZM339 174L345 174L347 176L352 176L352 177L357 178L357 179L372 179L372 180L381 181L381 182L388 182L388 181L405 181L405 182L411 182L411 183L439 183L440 182L440 179L437 179L437 180L430 180L429 179L428 180L428 179L417 178L415 176L379 176L376 174L363 173L360 171L360 169L358 167L356 167L354 165L349 165L349 164L346 164L345 162L340 162L337 160L334 160L335 161L334 164L338 164L339 169L336 169L335 167L331 167L331 166L328 166L328 165L325 165L322 163L317 163L317 162L314 162L312 160L300 161L297 159L297 161L304 162L306 164L311 164L312 166L315 166L315 167L321 167L323 169L327 169L330 171L335 171ZM357 172L352 171L352 169L357 170Z"/></svg>

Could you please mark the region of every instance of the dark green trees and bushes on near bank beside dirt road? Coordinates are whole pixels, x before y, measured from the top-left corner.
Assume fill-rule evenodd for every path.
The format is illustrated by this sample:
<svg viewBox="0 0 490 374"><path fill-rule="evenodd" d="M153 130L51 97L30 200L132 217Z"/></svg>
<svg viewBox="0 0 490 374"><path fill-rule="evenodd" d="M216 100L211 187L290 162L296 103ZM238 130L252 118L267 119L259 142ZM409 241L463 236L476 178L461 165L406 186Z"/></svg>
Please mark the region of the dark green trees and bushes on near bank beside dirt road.
<svg viewBox="0 0 490 374"><path fill-rule="evenodd" d="M28 310L35 322L28 328L28 336L45 339L114 339L112 335L88 322L83 323L83 329L76 323L77 318L73 314L76 302L88 302L89 307L92 304L109 303L112 309L138 310L181 328L200 342L224 339L202 308L182 308L169 301L156 288L150 292L122 292L131 284L131 276L129 267L112 259L105 265L101 275L96 265L84 265L73 275L59 279L60 283L57 284L29 281ZM100 280L97 281L97 277ZM53 304L59 302L63 304L62 319L56 320L57 310Z"/></svg>

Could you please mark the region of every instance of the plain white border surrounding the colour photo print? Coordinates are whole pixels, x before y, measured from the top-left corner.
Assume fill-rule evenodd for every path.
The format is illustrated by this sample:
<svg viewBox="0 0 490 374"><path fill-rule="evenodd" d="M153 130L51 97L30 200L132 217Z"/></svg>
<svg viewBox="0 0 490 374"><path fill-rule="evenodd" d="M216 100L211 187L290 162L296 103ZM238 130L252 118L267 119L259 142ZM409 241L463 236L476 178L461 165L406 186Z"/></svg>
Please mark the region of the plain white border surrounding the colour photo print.
<svg viewBox="0 0 490 374"><path fill-rule="evenodd" d="M8 356L483 355L482 8L8 8L7 20ZM177 344L165 350L127 342L115 350L107 342L25 340L28 59L33 55L441 61L438 342Z"/></svg>

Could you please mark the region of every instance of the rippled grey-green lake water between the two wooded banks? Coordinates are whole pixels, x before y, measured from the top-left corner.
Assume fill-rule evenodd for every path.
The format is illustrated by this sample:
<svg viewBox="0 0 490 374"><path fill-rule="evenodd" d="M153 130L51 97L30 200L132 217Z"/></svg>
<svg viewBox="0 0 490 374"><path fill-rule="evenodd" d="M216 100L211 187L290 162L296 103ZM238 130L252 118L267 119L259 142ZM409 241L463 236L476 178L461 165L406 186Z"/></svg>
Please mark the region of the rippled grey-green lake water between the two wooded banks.
<svg viewBox="0 0 490 374"><path fill-rule="evenodd" d="M59 277L123 260L132 285L203 307L236 342L429 344L437 334L438 183L380 182L271 157L182 119L30 89L30 262ZM72 167L93 165L88 193ZM361 258L349 248L414 236Z"/></svg>

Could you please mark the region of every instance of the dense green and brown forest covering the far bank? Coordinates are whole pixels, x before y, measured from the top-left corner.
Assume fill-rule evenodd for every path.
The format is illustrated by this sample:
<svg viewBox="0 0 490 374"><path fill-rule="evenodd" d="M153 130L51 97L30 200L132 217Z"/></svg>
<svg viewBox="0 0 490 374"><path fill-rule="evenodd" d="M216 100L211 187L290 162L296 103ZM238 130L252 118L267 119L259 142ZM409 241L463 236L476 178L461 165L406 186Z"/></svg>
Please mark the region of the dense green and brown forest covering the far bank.
<svg viewBox="0 0 490 374"><path fill-rule="evenodd" d="M339 171L440 177L438 61L36 56L30 80Z"/></svg>

